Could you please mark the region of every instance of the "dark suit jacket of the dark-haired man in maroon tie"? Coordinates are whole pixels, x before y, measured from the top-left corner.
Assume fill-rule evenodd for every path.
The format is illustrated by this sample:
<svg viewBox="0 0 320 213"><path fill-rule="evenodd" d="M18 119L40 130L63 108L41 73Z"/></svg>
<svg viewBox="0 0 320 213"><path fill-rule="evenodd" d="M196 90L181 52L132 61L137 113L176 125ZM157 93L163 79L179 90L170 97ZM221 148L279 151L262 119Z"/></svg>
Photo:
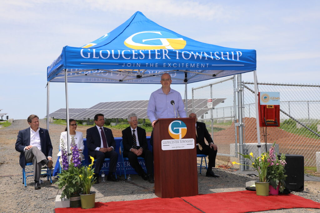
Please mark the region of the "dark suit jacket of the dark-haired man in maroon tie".
<svg viewBox="0 0 320 213"><path fill-rule="evenodd" d="M111 129L103 127L104 134L107 138L108 147L116 148L116 141L113 137ZM101 138L97 126L93 126L87 129L87 145L88 145L88 154L94 156L94 151L97 147L101 147Z"/></svg>

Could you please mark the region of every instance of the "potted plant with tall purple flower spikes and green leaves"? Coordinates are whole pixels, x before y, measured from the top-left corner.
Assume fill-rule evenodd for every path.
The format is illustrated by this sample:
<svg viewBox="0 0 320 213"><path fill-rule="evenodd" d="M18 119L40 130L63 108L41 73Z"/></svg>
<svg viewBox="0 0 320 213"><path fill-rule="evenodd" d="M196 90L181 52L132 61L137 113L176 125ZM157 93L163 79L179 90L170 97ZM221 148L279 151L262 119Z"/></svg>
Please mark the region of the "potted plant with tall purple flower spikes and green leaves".
<svg viewBox="0 0 320 213"><path fill-rule="evenodd" d="M68 154L64 146L64 141L61 139L61 158L62 158L62 172L59 174L57 181L58 188L62 189L61 197L70 199L70 207L80 207L80 195L82 188L80 186L79 169L80 159L77 145L71 141L72 158L70 164L68 163Z"/></svg>

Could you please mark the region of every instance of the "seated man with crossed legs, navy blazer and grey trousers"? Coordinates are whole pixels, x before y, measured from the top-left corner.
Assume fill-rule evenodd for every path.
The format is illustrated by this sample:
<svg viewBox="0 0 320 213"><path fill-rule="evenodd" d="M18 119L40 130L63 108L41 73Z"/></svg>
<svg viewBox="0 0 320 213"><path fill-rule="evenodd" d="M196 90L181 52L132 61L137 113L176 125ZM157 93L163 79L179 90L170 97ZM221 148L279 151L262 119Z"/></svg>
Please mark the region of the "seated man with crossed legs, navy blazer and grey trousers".
<svg viewBox="0 0 320 213"><path fill-rule="evenodd" d="M20 152L19 164L22 168L32 162L35 189L40 189L41 167L47 165L51 168L53 164L52 144L48 130L39 128L38 116L30 115L27 121L30 127L19 131L15 148Z"/></svg>

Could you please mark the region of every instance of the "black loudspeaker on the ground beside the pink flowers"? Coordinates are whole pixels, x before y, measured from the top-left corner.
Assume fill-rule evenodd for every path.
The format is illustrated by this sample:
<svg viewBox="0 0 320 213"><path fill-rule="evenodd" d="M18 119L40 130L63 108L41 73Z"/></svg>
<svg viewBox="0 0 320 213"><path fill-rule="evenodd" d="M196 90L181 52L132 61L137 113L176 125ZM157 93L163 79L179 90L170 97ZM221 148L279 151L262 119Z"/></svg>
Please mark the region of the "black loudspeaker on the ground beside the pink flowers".
<svg viewBox="0 0 320 213"><path fill-rule="evenodd" d="M278 158L280 158L278 154ZM288 175L285 179L285 187L291 191L304 190L304 157L302 155L285 154L285 161L287 164L284 166L285 173Z"/></svg>

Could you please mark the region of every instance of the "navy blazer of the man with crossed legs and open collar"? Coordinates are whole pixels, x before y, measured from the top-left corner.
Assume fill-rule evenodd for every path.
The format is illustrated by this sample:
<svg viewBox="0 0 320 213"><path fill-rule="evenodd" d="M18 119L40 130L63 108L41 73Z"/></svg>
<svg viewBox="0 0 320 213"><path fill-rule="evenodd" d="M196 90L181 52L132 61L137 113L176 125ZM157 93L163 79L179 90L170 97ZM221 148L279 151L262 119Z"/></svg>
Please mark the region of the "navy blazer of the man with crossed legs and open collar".
<svg viewBox="0 0 320 213"><path fill-rule="evenodd" d="M47 129L40 128L39 130L41 151L48 157L52 156L52 144ZM30 145L30 127L20 130L16 141L15 148L20 152L19 164L22 168L26 167L26 157L24 156L24 148Z"/></svg>

